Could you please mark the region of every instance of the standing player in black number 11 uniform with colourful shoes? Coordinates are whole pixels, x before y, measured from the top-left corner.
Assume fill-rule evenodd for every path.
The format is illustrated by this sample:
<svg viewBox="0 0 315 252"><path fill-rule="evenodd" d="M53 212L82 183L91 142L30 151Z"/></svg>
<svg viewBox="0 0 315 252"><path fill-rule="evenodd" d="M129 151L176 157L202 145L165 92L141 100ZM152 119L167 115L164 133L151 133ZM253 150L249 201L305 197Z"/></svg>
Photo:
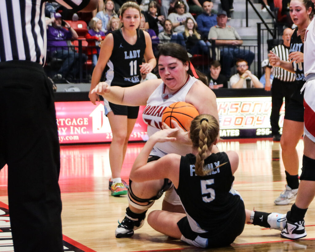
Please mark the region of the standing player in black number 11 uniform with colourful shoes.
<svg viewBox="0 0 315 252"><path fill-rule="evenodd" d="M126 2L121 7L120 21L123 27L109 33L100 49L100 56L92 74L91 90L100 82L106 71L106 83L110 86L131 87L141 80L141 73L149 73L156 65L150 35L139 30L140 7L137 3ZM143 57L146 63L142 63ZM97 94L89 94L93 104L100 100ZM121 106L104 100L105 112L112 129L109 162L112 178L110 187L113 196L127 194L127 186L120 178L123 159L129 136L138 117L139 107Z"/></svg>

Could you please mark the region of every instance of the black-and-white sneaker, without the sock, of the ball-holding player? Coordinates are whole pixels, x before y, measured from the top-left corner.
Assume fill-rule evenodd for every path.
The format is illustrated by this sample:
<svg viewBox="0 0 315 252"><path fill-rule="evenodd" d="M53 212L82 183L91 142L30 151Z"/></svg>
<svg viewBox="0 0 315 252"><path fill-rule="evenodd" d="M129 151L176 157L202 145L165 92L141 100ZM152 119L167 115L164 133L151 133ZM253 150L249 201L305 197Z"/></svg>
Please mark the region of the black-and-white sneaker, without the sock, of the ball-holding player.
<svg viewBox="0 0 315 252"><path fill-rule="evenodd" d="M145 215L144 215L145 216ZM122 222L119 222L118 227L115 230L116 238L127 238L134 235L134 230L139 229L144 224L143 219L133 219L127 214Z"/></svg>

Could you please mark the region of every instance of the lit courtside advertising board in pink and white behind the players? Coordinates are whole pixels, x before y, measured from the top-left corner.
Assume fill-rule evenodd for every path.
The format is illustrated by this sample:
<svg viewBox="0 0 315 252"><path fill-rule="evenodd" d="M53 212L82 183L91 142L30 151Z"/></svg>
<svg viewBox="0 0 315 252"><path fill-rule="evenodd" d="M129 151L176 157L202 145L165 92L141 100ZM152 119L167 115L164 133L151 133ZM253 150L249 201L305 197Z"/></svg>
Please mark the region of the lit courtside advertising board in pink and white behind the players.
<svg viewBox="0 0 315 252"><path fill-rule="evenodd" d="M217 98L220 136L226 138L271 136L271 97ZM55 102L60 144L111 142L112 130L102 103L90 101ZM129 141L146 141L146 124L142 120L144 106ZM280 110L280 131L284 119L284 103ZM281 132L280 132L281 133Z"/></svg>

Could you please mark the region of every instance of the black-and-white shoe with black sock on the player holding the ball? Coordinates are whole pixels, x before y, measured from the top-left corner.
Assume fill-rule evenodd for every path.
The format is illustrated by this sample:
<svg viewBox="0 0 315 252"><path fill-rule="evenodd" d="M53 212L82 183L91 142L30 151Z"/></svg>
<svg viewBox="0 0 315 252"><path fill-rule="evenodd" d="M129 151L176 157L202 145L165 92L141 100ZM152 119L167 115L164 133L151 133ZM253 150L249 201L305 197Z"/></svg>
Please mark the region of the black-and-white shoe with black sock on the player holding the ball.
<svg viewBox="0 0 315 252"><path fill-rule="evenodd" d="M129 215L132 215L132 218ZM139 229L144 224L146 218L146 211L142 214L136 214L130 211L129 207L126 209L126 216L122 222L119 222L118 227L115 230L116 238L127 238L134 235L134 230Z"/></svg>

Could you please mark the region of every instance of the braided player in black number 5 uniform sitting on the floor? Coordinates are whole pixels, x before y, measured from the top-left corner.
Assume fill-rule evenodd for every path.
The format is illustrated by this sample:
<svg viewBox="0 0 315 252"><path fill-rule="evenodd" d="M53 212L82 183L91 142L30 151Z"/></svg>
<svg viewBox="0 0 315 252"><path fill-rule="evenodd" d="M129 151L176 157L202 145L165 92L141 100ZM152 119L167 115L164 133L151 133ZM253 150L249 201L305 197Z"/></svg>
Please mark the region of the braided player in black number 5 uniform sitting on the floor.
<svg viewBox="0 0 315 252"><path fill-rule="evenodd" d="M245 209L243 199L232 188L238 168L234 151L212 152L219 140L219 123L209 114L198 115L191 123L189 137L192 153L168 154L147 163L153 146L175 141L178 128L163 123L146 142L130 173L130 180L143 182L169 178L180 197L185 214L154 210L148 223L155 230L197 247L224 247L243 232L244 225L254 224L282 230L285 215Z"/></svg>

